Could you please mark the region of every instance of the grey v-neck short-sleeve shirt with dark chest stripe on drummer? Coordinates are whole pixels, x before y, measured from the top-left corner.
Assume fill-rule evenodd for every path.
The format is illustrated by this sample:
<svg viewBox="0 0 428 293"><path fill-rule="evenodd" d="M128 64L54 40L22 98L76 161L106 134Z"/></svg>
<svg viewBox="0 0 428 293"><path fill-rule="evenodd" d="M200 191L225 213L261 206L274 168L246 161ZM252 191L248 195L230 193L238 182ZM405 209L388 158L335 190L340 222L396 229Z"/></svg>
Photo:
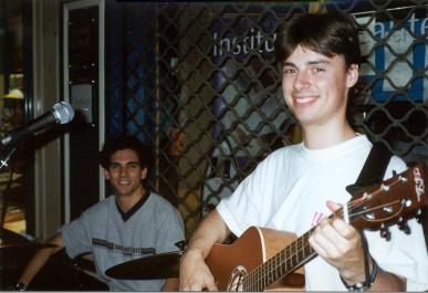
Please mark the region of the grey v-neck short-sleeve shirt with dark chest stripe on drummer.
<svg viewBox="0 0 428 293"><path fill-rule="evenodd" d="M159 291L165 280L118 280L105 271L129 260L177 251L175 243L185 239L180 214L154 192L126 221L111 196L63 226L61 232L69 257L93 253L97 274L112 291Z"/></svg>

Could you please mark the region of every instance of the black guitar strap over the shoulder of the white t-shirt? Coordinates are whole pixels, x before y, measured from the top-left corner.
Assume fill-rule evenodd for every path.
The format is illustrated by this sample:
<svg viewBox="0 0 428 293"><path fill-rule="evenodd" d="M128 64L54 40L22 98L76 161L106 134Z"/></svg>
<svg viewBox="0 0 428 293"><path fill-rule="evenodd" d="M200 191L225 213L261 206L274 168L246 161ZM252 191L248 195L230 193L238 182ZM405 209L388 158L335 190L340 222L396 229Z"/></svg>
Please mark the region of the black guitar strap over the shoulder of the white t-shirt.
<svg viewBox="0 0 428 293"><path fill-rule="evenodd" d="M364 187L380 184L392 156L384 144L374 143L357 180L355 184L347 186L346 191L354 195Z"/></svg>

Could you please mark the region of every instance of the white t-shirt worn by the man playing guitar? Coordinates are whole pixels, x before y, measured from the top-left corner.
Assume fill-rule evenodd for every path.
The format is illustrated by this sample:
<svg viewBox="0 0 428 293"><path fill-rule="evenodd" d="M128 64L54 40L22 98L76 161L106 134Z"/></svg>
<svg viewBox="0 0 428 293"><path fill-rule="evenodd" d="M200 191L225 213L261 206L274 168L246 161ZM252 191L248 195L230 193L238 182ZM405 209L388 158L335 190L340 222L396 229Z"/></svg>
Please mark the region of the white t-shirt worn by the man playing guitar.
<svg viewBox="0 0 428 293"><path fill-rule="evenodd" d="M357 136L324 149L303 144L275 150L259 164L237 190L220 201L217 210L229 229L241 236L249 227L267 227L302 236L328 217L326 201L346 203L345 187L356 181L372 148L366 136ZM401 172L406 164L393 156L385 178ZM407 278L408 291L428 289L428 255L422 227L410 220L409 236L390 228L386 241L378 231L365 231L369 252L378 265ZM411 245L409 245L411 243ZM338 272L317 257L305 265L307 291L346 291Z"/></svg>

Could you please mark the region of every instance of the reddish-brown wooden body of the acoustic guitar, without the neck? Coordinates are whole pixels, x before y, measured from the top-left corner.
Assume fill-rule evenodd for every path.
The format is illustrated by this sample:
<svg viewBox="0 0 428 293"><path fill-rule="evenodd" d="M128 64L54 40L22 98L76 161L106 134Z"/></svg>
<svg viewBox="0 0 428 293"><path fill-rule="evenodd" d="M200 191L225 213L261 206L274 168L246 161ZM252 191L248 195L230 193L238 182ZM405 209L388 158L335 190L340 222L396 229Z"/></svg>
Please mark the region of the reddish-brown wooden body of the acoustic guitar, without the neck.
<svg viewBox="0 0 428 293"><path fill-rule="evenodd" d="M206 262L220 291L252 291L243 286L242 276L295 239L293 233L251 227L232 244L215 244ZM268 290L304 290L303 269L280 278Z"/></svg>

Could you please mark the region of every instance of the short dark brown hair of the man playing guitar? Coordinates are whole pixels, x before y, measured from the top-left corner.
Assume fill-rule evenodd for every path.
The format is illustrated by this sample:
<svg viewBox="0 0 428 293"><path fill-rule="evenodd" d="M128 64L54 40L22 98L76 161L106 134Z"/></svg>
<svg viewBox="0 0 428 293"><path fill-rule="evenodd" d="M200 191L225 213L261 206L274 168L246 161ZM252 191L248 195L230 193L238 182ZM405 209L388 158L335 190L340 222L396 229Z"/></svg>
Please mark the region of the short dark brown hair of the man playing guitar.
<svg viewBox="0 0 428 293"><path fill-rule="evenodd" d="M286 21L275 40L278 62L284 62L299 46L325 56L343 55L346 66L361 63L358 27L341 12L300 13Z"/></svg>

